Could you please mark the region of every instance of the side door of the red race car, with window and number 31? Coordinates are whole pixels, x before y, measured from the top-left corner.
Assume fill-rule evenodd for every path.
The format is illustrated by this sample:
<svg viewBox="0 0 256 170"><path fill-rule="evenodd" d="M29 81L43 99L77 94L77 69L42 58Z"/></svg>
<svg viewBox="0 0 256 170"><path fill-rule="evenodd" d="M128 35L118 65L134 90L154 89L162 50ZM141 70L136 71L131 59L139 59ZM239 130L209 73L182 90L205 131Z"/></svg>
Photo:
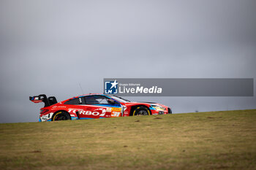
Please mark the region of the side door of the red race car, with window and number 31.
<svg viewBox="0 0 256 170"><path fill-rule="evenodd" d="M86 112L80 113L80 119L121 116L121 104L107 96L91 95L85 96L83 99Z"/></svg>

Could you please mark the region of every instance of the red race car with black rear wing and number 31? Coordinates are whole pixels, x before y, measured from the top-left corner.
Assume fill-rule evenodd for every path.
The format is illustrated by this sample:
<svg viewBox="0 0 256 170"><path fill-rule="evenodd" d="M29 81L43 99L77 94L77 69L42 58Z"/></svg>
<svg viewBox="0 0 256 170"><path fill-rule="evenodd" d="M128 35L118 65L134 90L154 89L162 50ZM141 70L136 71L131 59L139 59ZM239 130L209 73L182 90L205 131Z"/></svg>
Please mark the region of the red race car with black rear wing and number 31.
<svg viewBox="0 0 256 170"><path fill-rule="evenodd" d="M153 102L131 102L118 96L88 94L57 102L45 94L29 97L34 103L44 102L40 109L39 122L56 120L95 119L137 115L166 115L170 107Z"/></svg>

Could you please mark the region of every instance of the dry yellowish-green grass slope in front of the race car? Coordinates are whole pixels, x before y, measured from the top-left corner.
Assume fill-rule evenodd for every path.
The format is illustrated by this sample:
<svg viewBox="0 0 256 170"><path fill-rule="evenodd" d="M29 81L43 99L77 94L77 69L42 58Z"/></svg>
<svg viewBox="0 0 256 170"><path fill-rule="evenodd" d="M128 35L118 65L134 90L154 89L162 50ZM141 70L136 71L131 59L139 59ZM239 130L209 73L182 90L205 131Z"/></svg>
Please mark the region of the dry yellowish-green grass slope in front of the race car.
<svg viewBox="0 0 256 170"><path fill-rule="evenodd" d="M256 169L256 109L0 124L0 169Z"/></svg>

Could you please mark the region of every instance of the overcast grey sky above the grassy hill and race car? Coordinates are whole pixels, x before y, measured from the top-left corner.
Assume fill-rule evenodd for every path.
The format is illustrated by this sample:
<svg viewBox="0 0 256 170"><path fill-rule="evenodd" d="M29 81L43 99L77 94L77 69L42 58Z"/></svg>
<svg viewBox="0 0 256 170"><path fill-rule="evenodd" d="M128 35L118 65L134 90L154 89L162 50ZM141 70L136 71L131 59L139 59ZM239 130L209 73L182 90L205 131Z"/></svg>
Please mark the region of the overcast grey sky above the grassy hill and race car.
<svg viewBox="0 0 256 170"><path fill-rule="evenodd" d="M102 93L118 78L256 78L256 1L0 1L0 123ZM255 109L255 97L129 97L173 112Z"/></svg>

